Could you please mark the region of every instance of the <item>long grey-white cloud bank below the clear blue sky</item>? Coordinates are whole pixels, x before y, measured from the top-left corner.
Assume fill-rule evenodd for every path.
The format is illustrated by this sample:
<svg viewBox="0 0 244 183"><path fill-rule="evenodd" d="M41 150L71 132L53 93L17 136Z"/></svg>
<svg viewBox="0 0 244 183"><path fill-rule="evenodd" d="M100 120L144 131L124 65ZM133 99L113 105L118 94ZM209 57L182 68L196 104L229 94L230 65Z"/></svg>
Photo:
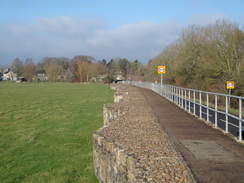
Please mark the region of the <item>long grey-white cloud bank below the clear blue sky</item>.
<svg viewBox="0 0 244 183"><path fill-rule="evenodd" d="M98 19L37 18L32 24L0 25L0 61L84 54L146 63L175 40L180 30L170 22L145 21L108 30Z"/></svg>

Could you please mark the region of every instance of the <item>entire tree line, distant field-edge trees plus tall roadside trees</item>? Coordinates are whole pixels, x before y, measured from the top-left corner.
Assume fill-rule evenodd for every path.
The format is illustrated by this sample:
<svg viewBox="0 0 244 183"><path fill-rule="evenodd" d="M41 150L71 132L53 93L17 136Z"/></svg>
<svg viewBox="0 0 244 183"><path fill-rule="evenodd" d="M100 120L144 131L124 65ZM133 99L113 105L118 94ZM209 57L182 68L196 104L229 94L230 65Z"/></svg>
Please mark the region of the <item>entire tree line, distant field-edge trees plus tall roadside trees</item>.
<svg viewBox="0 0 244 183"><path fill-rule="evenodd" d="M157 67L166 66L164 83L210 92L226 93L226 81L235 81L234 95L244 96L244 31L237 24L218 20L206 26L191 25L179 38L145 66L126 58L97 61L92 56L72 59L44 57L36 65L31 58L18 58L11 69L33 81L36 70L45 70L50 81L58 81L63 69L73 73L72 81L88 82L104 76L110 83L121 75L136 81L157 81Z"/></svg>

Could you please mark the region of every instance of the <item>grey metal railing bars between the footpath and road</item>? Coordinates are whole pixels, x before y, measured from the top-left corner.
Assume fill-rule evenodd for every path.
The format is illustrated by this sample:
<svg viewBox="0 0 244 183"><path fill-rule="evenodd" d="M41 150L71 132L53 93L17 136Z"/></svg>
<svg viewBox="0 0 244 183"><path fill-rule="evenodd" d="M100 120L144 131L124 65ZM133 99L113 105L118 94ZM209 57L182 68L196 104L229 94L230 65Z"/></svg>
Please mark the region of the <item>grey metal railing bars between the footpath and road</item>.
<svg viewBox="0 0 244 183"><path fill-rule="evenodd" d="M202 110L202 108L206 109L206 120L210 121L210 110L214 111L214 115L215 115L215 127L218 127L218 115L219 114L223 114L225 115L225 132L226 133L230 133L229 131L229 126L234 126L235 128L238 128L238 133L239 133L239 141L242 140L242 133L243 133L243 123L244 123L244 119L242 117L242 105L243 105L243 100L244 97L241 96L235 96L235 95L229 95L229 94L223 94L223 93L214 93L214 92L208 92L208 91L202 91L202 90L196 90L196 89L190 89L190 88L183 88L183 87L179 87L179 86L174 86L174 85L169 85L169 84L163 84L161 85L160 83L151 83L151 82L131 82L131 81L122 81L121 83L123 84L132 84L132 85L136 85L136 86L140 86L143 88L148 88L151 89L154 92L159 93L160 95L162 95L163 97L167 98L168 100L172 101L173 103L179 105L180 107L184 108L185 110L193 113L194 115L196 115L196 105L199 106L199 117L200 119L204 119L202 117L202 114L205 114ZM191 92L193 92L193 96L191 96ZM199 93L199 102L196 101L197 97L196 97L196 93ZM206 94L206 105L203 104L202 100L202 94ZM215 96L215 102L214 102L214 108L212 108L211 106L209 106L210 102L209 102L209 95L214 95ZM221 111L218 109L218 96L222 96L225 97L225 111ZM193 98L192 98L193 97ZM236 98L238 99L239 102L239 116L238 115L232 115L229 113L229 105L230 105L230 99L231 98ZM192 108L193 112L191 111L191 104L193 105ZM188 105L188 106L187 106ZM218 117L217 117L218 116ZM235 120L238 121L238 125L234 124L233 122L229 121L229 117L234 118ZM219 119L221 121L223 121L223 119ZM235 122L237 123L237 122ZM221 127L223 128L223 127ZM233 132L232 132L233 133Z"/></svg>

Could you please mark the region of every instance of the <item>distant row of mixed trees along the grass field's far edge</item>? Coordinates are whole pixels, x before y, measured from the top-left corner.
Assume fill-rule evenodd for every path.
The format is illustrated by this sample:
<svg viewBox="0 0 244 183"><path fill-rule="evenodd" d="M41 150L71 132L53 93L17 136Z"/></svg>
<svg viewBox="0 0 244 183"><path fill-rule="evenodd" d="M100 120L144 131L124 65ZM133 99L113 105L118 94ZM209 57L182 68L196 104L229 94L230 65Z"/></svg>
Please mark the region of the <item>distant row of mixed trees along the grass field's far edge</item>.
<svg viewBox="0 0 244 183"><path fill-rule="evenodd" d="M24 62L16 58L11 65L11 70L18 77L24 77L30 82L37 79L37 71L45 71L49 81L59 81L59 76L67 69L73 74L71 80L76 82L88 82L100 77L110 83L116 80L118 75L124 79L130 77L139 80L145 73L145 67L137 60L128 61L126 58L117 58L107 63L105 59L96 61L94 57L84 55L75 56L73 59L44 57L37 64L31 58L27 58Z"/></svg>

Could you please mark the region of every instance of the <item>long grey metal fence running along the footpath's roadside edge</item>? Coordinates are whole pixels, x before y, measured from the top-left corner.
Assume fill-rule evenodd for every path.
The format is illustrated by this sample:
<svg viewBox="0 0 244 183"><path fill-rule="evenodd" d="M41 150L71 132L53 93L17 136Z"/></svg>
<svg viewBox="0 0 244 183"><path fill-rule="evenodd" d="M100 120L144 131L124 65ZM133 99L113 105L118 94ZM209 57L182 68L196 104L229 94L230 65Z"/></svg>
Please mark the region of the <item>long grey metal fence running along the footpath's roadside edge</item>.
<svg viewBox="0 0 244 183"><path fill-rule="evenodd" d="M226 133L243 140L244 119L243 100L244 97L212 93L189 88L181 88L173 85L160 85L149 82L127 82L123 84L132 84L142 88L151 89L162 95L176 105L185 110L214 124L215 128L221 128ZM232 114L231 105L235 105L238 114Z"/></svg>

